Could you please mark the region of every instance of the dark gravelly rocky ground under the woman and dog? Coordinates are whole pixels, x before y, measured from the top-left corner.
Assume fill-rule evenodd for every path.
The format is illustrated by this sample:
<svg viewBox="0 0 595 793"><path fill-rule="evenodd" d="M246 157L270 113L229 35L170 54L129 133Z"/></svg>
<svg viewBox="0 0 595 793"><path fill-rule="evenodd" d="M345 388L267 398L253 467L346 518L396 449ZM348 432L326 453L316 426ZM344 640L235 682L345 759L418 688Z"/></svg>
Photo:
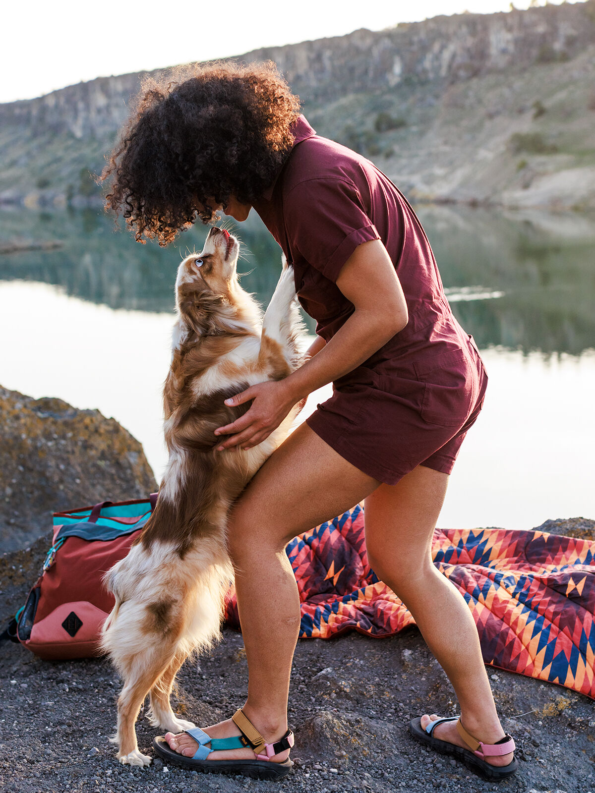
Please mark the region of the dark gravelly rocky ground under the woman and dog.
<svg viewBox="0 0 595 793"><path fill-rule="evenodd" d="M593 521L548 522L548 531L593 538ZM24 602L44 554L0 557L0 617ZM186 664L175 709L199 725L227 718L244 701L246 659L240 634L224 631L211 657ZM539 680L489 669L505 729L516 740L520 770L486 783L454 760L420 747L406 732L424 711L456 712L447 680L416 629L388 639L347 634L298 643L290 726L294 769L281 783L240 776L198 775L155 760L149 768L117 763L109 735L115 726L116 672L105 660L40 661L18 645L0 645L0 790L18 793L146 791L207 793L277 787L287 793L411 791L461 793L595 793L595 714L585 696ZM141 717L140 749L153 754L154 730Z"/></svg>

